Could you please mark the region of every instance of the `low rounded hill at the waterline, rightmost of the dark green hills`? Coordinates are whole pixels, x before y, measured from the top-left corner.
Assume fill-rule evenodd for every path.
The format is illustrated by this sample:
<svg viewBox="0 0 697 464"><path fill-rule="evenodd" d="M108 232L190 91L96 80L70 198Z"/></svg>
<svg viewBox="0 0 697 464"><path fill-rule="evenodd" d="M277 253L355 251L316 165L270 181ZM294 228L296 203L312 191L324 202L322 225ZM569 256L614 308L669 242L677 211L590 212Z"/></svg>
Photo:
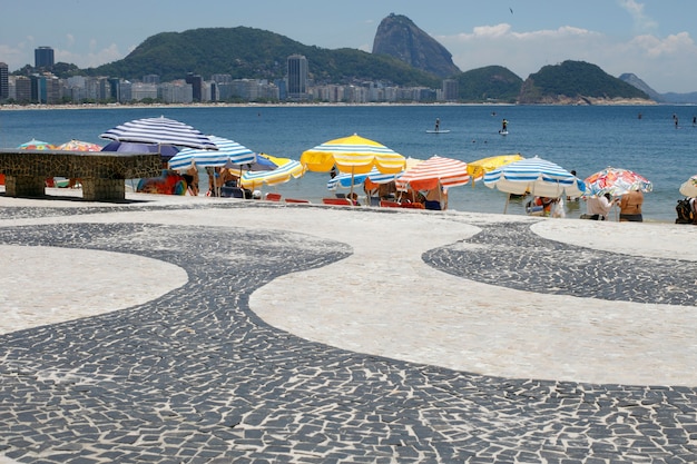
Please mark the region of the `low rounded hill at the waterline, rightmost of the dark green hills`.
<svg viewBox="0 0 697 464"><path fill-rule="evenodd" d="M593 105L617 100L649 100L636 87L612 77L596 65L563 61L544 66L526 79L520 103Z"/></svg>

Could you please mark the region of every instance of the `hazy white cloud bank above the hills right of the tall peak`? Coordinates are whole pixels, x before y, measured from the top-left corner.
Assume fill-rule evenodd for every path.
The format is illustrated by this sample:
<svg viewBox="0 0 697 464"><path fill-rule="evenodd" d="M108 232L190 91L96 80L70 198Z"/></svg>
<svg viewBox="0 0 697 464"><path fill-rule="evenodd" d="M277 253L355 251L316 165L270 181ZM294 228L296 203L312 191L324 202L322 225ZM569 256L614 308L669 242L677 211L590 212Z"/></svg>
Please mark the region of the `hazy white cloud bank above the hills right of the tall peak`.
<svg viewBox="0 0 697 464"><path fill-rule="evenodd" d="M546 65L578 60L597 65L611 76L634 72L659 92L697 91L693 79L697 76L697 46L687 32L620 40L569 26L517 32L502 23L436 40L463 71L500 65L526 79Z"/></svg>

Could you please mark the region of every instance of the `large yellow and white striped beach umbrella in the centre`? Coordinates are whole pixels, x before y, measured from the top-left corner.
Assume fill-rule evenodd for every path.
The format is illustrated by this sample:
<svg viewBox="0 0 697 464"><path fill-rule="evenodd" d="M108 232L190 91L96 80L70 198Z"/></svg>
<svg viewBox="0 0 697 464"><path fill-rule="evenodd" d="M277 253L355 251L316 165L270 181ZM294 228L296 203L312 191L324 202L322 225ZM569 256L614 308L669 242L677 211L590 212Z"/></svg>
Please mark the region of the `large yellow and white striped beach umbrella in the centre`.
<svg viewBox="0 0 697 464"><path fill-rule="evenodd" d="M301 164L315 172L369 174L373 166L383 174L397 174L406 166L402 155L356 134L318 145L301 156Z"/></svg>

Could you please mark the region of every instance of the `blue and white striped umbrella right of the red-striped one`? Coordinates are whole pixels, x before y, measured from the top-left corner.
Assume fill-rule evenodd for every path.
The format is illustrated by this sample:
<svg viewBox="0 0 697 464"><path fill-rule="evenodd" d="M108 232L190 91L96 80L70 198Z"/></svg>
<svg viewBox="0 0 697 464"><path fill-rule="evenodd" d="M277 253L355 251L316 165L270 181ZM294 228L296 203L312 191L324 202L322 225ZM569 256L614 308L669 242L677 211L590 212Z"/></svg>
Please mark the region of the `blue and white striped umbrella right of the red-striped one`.
<svg viewBox="0 0 697 464"><path fill-rule="evenodd" d="M484 185L514 195L559 198L580 196L582 180L562 167L539 157L521 159L484 174Z"/></svg>

